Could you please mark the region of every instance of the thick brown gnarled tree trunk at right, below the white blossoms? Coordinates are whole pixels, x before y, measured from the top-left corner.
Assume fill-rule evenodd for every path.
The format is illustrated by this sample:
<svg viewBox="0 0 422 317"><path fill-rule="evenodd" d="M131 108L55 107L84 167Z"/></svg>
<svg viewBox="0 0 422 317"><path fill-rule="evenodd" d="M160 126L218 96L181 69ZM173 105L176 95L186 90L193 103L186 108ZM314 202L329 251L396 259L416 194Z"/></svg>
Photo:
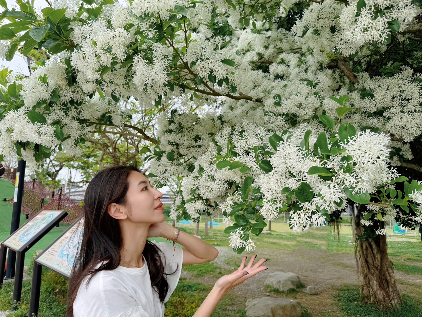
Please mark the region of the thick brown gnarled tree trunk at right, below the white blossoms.
<svg viewBox="0 0 422 317"><path fill-rule="evenodd" d="M394 277L393 263L388 258L385 235L375 235L373 229L384 229L385 222L376 221L372 227L360 223L365 205L359 205L355 217L356 262L360 279L360 296L366 303L376 303L381 307L398 307L402 298Z"/></svg>

